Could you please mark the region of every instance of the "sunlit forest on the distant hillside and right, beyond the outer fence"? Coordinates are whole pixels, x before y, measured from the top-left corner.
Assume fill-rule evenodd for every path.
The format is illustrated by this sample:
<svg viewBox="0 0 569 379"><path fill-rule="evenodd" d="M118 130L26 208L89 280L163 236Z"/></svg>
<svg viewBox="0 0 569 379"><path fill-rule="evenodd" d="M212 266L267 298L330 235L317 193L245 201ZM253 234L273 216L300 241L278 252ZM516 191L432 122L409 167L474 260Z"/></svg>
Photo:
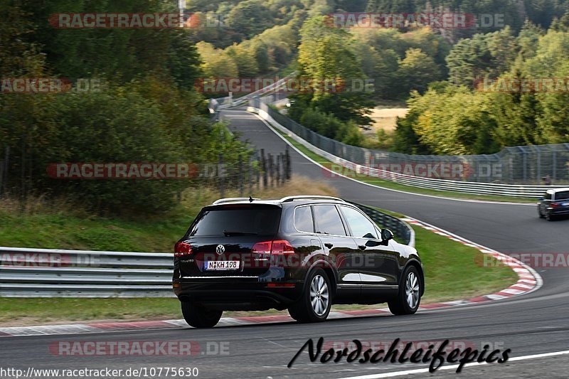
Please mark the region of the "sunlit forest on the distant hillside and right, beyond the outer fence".
<svg viewBox="0 0 569 379"><path fill-rule="evenodd" d="M341 142L368 146L358 126L382 100L408 101L390 149L485 154L502 146L568 142L568 92L478 91L484 78L563 78L565 0L189 1L211 20L193 30L204 74L368 78L372 91L293 95L289 116ZM331 28L334 13L457 12L499 23L441 30ZM216 23L216 28L212 28ZM381 144L381 142L380 142Z"/></svg>

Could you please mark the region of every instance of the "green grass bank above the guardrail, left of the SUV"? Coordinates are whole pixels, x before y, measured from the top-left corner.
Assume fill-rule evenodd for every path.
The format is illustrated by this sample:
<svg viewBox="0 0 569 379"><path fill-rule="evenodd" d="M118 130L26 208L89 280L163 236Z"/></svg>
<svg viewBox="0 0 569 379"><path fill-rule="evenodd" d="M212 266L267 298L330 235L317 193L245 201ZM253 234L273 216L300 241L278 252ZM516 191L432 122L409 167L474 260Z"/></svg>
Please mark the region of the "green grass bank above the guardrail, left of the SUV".
<svg viewBox="0 0 569 379"><path fill-rule="evenodd" d="M178 210L176 212L176 210ZM18 214L0 208L0 245L47 249L171 252L197 210L179 207L164 218L103 218L68 210ZM17 226L16 226L17 225Z"/></svg>

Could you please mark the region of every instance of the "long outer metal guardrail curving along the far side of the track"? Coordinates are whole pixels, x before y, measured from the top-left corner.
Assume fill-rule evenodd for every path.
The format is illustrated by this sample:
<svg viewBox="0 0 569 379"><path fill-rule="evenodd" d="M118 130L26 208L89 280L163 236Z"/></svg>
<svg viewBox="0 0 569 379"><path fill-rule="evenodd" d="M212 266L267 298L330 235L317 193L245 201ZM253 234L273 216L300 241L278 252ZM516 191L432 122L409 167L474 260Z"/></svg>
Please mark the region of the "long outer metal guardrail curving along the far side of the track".
<svg viewBox="0 0 569 379"><path fill-rule="evenodd" d="M480 195L494 195L494 196L511 196L517 198L540 198L550 188L566 187L566 185L532 186L532 185L520 185L520 184L482 183L474 181L452 181L448 179L439 179L439 178L423 178L420 176L411 176L411 175L395 173L393 171L376 169L371 166L357 164L353 161L349 161L348 159L344 159L342 157L345 155L349 155L349 154L344 154L348 149L361 149L362 151L367 149L362 149L356 146L344 145L341 144L340 142L334 142L335 144L344 145L344 147L342 147L341 149L339 150L336 149L338 150L337 154L341 155L338 156L336 154L332 154L328 150L321 149L320 147L311 144L306 139L303 139L299 135L295 134L295 131L298 131L298 127L303 128L301 130L307 128L302 127L302 125L297 124L292 119L289 119L285 117L283 114L277 112L276 110L273 110L267 104L255 99L250 102L250 107L248 107L248 110L252 112L257 112L257 114L259 114L260 117L270 122L274 127L279 129L281 132L288 134L289 137L294 139L296 142L299 142L310 151L320 156L323 156L324 158L328 159L329 161L333 162L339 167L344 167L345 169L351 170L352 175L353 173L355 173L355 175L373 176L376 178L393 181L395 183L404 184L406 186L428 188L439 191L455 191L462 193L475 193ZM296 127L291 127L291 125L295 125ZM332 141L331 139L316 134L312 131L309 132L310 135L314 137L313 139L323 140L326 143ZM324 142L319 145L322 146ZM445 158L445 156L442 156L440 158Z"/></svg>

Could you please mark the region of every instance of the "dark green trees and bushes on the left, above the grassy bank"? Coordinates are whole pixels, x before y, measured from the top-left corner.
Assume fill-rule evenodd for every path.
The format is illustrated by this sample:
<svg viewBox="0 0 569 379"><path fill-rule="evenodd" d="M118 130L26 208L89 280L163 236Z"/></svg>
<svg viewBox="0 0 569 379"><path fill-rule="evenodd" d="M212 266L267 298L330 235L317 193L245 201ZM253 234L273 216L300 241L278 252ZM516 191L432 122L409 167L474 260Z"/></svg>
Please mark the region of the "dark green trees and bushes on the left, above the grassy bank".
<svg viewBox="0 0 569 379"><path fill-rule="evenodd" d="M9 148L4 193L67 196L100 212L166 210L191 180L58 180L60 162L206 164L250 151L212 124L193 90L201 57L180 28L60 29L58 12L172 12L161 0L2 1L0 77L97 80L97 90L0 95L0 151ZM4 92L4 87L3 87ZM7 180L6 180L7 179Z"/></svg>

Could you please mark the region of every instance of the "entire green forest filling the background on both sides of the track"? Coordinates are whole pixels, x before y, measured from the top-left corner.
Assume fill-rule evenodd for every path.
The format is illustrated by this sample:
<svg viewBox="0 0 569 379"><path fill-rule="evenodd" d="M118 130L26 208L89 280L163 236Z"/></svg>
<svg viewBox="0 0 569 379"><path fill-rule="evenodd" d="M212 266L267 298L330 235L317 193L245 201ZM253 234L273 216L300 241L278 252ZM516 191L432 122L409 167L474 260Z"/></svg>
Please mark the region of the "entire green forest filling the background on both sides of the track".
<svg viewBox="0 0 569 379"><path fill-rule="evenodd" d="M389 141L381 146L395 151L485 154L569 142L567 88L516 92L488 85L569 77L569 0L188 0L187 28L63 29L48 22L60 12L176 12L176 5L2 2L1 78L104 83L97 91L0 96L2 154L9 147L5 191L70 193L105 211L168 208L176 193L197 184L58 181L48 178L46 167L65 161L207 164L219 153L235 161L250 151L210 121L208 94L196 90L196 81L274 78L293 70L316 82L341 83L339 91L291 95L288 114L347 144L370 146L360 129L371 122L368 111L386 100L410 107L393 134L379 136ZM450 29L331 23L346 12L456 12L497 15L502 23ZM349 90L345 84L353 79L371 85Z"/></svg>

